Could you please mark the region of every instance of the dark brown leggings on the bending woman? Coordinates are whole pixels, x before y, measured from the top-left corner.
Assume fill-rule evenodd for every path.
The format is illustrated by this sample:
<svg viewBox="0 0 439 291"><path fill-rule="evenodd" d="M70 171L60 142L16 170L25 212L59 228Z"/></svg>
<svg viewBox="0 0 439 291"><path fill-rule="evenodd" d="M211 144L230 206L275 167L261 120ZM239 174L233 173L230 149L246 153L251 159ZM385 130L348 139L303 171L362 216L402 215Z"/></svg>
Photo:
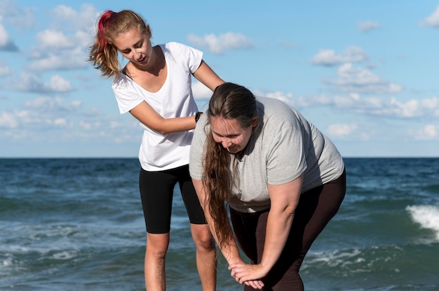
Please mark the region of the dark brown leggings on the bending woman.
<svg viewBox="0 0 439 291"><path fill-rule="evenodd" d="M304 290L299 269L304 257L327 222L337 213L346 193L346 172L337 180L303 193L299 199L291 231L278 262L262 278L269 291ZM241 213L230 208L231 222L239 246L252 264L259 263L264 250L269 210ZM255 290L245 286L245 291Z"/></svg>

